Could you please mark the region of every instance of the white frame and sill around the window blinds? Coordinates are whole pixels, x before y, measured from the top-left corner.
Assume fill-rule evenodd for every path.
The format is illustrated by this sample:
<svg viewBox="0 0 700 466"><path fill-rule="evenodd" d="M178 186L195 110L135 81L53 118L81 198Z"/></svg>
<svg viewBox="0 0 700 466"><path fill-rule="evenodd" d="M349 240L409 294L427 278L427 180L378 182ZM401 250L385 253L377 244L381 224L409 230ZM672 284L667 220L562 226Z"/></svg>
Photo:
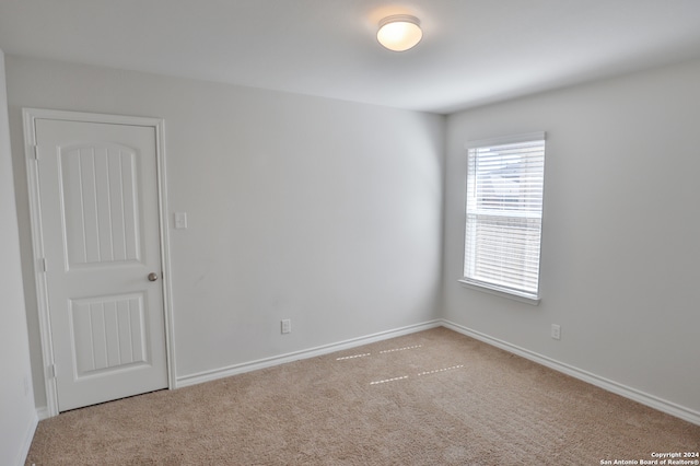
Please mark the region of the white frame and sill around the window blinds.
<svg viewBox="0 0 700 466"><path fill-rule="evenodd" d="M464 235L463 235L463 258L462 258L462 278L458 280L459 283L465 287L465 288L469 288L469 289L474 289L474 290L478 290L478 291L482 291L486 293L490 293L490 294L495 294L495 295L500 295L503 298L508 298L511 300L515 300L515 301L520 301L520 302L524 302L527 304L533 304L533 305L538 305L540 300L541 300L541 295L540 295L540 290L541 290L541 246L542 246L542 224L544 224L544 200L545 200L545 188L544 188L544 176L545 176L545 167L544 167L544 163L545 163L545 155L546 155L546 140L547 140L547 133L545 131L537 131L537 132L528 132L528 133L522 133L522 135L513 135L513 136L506 136L506 137L497 137L497 138L489 138L489 139L480 139L480 140L471 140L468 141L465 144L465 149L467 150L467 170L466 170L466 177L465 177L465 197L464 197ZM481 281L478 279L474 279L474 278L469 278L466 277L466 268L467 268L467 258L466 258L466 254L467 254L467 233L468 233L468 229L469 229L469 223L468 223L468 186L469 186L469 151L474 150L474 149L480 149L480 148L489 148L489 147L498 147L498 145L505 145L505 144L517 144L517 143L526 143L526 142L537 142L537 141L541 141L542 142L542 188L541 188L541 210L539 212L539 249L538 249L538 256L537 256L537 290L535 293L530 293L527 291L523 291L523 290L517 290L517 289L513 289L513 288L509 288L505 286L500 286L498 283L493 283L493 282L489 282L489 281ZM515 218L515 215L503 215L504 219L509 219L509 218Z"/></svg>

